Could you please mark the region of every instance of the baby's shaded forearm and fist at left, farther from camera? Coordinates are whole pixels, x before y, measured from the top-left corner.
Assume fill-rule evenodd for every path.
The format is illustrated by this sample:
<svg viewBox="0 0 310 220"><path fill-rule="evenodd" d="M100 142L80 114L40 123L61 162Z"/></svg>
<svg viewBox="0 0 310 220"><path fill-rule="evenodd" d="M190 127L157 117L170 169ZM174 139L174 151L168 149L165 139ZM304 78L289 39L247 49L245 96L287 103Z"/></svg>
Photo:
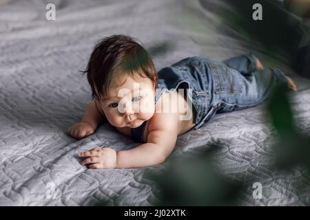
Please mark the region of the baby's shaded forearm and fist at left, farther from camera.
<svg viewBox="0 0 310 220"><path fill-rule="evenodd" d="M72 137L81 139L94 133L97 127L106 120L105 115L100 111L97 100L92 100L86 107L81 122L73 124L67 133Z"/></svg>

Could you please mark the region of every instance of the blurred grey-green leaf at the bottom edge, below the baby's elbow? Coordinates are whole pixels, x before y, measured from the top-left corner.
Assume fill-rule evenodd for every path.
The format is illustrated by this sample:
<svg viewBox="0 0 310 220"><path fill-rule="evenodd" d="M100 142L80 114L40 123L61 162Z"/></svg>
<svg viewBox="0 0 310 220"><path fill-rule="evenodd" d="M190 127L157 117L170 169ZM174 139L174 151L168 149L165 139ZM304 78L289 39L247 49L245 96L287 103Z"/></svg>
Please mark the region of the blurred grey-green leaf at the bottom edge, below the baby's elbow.
<svg viewBox="0 0 310 220"><path fill-rule="evenodd" d="M213 145L212 147L218 148ZM241 183L232 183L211 165L212 153L174 158L167 170L150 179L160 188L158 206L236 206Z"/></svg>

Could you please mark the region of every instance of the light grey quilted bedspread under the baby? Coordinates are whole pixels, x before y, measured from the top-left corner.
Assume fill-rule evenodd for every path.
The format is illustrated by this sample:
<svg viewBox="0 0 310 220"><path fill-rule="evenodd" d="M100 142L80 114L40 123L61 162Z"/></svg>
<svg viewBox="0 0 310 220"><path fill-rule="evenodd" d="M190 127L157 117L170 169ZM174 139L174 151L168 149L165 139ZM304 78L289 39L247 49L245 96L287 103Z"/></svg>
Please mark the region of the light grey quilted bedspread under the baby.
<svg viewBox="0 0 310 220"><path fill-rule="evenodd" d="M56 5L56 20L45 19L45 5ZM207 1L216 7L216 1ZM138 146L103 124L76 140L65 131L79 122L91 100L79 72L94 42L129 34L146 48L169 45L154 55L157 70L188 56L222 61L249 52L208 3L198 0L0 1L0 205L153 206L158 188L147 178L165 164L147 168L93 170L77 153L96 146L116 150ZM254 53L256 53L254 51ZM298 128L310 130L310 83L282 61L265 54L266 66L279 67L296 80L291 93ZM245 206L310 205L309 179L300 167L277 170L270 163L273 129L265 122L265 103L216 114L197 131L178 137L172 156L183 157L221 143L220 171L231 179L260 181L262 199L252 197L251 182L242 193ZM52 191L50 194L48 192Z"/></svg>

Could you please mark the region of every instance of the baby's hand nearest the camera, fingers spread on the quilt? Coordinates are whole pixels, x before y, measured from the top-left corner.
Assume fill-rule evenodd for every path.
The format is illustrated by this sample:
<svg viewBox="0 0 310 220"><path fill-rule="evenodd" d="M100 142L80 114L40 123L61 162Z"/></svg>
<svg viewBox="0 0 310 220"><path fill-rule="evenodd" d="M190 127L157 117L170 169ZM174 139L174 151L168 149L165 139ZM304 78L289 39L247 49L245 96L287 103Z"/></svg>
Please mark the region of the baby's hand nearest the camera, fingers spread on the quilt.
<svg viewBox="0 0 310 220"><path fill-rule="evenodd" d="M116 151L112 148L94 148L78 154L79 157L87 157L81 165L90 164L88 168L103 169L116 168Z"/></svg>

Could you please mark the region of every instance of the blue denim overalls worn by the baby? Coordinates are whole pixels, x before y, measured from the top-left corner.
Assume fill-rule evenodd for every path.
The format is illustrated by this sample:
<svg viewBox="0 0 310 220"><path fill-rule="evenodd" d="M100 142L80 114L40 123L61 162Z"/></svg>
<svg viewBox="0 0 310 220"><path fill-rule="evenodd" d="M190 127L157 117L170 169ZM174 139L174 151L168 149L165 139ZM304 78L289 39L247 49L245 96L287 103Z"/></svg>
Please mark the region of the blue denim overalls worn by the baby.
<svg viewBox="0 0 310 220"><path fill-rule="evenodd" d="M196 130L215 113L253 107L265 100L274 86L281 84L289 88L289 81L280 69L266 68L256 72L253 54L224 62L192 56L158 72L155 102L164 91L192 89L189 90L192 96L187 96L187 100L196 111L196 125L191 129ZM132 129L132 139L143 143L145 124Z"/></svg>

